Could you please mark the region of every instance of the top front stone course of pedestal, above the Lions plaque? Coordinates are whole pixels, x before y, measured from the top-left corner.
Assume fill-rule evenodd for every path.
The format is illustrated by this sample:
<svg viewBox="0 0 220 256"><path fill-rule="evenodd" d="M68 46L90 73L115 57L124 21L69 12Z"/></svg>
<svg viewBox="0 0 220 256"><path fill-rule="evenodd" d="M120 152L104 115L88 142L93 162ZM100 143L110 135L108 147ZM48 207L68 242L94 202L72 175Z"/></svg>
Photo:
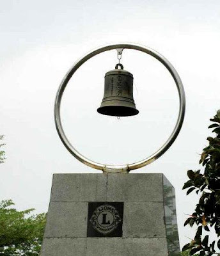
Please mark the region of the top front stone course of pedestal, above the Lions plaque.
<svg viewBox="0 0 220 256"><path fill-rule="evenodd" d="M162 173L54 174L51 202L163 202Z"/></svg>

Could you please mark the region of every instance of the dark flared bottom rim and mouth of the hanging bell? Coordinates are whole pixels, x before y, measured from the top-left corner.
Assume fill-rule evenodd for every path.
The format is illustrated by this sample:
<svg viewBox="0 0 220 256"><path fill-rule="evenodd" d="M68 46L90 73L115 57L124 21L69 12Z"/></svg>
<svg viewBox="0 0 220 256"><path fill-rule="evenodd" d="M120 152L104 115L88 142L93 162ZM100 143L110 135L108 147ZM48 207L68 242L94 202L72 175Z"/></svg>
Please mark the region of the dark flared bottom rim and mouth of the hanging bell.
<svg viewBox="0 0 220 256"><path fill-rule="evenodd" d="M139 113L138 109L125 106L105 106L98 108L97 111L106 116L135 116Z"/></svg>

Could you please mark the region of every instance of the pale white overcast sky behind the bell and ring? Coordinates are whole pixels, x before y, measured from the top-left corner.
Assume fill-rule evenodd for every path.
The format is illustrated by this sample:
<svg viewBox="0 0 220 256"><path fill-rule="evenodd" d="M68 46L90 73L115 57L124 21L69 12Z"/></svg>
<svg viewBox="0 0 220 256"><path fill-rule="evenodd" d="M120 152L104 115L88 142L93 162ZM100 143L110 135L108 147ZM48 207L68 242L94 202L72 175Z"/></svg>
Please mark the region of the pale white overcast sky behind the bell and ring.
<svg viewBox="0 0 220 256"><path fill-rule="evenodd" d="M185 122L172 147L135 172L162 172L176 189L180 243L193 238L183 227L198 198L185 196L189 169L210 135L209 118L219 108L220 2L213 1L28 1L3 0L0 8L1 199L19 209L47 211L52 173L95 173L72 157L58 138L53 104L59 83L73 63L103 44L135 42L159 51L184 83ZM98 115L104 74L116 51L87 61L63 96L63 126L72 144L101 163L131 163L150 156L171 133L178 95L168 71L152 57L125 50L122 63L134 75L140 113L122 118ZM129 139L128 139L129 138Z"/></svg>

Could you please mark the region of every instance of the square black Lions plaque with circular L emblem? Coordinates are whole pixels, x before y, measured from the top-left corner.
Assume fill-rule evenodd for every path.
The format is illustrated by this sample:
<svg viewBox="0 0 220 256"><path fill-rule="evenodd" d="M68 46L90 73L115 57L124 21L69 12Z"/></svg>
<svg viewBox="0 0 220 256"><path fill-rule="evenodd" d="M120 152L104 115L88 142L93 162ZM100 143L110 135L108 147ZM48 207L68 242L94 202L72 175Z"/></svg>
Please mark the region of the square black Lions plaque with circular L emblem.
<svg viewBox="0 0 220 256"><path fill-rule="evenodd" d="M89 202L87 237L122 237L123 202Z"/></svg>

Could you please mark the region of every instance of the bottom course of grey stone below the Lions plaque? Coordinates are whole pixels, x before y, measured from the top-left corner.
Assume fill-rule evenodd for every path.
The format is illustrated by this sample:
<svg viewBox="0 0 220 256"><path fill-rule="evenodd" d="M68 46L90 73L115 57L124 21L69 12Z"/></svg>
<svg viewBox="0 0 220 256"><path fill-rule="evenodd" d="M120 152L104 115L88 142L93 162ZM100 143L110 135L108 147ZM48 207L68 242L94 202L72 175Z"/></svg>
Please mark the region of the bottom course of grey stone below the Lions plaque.
<svg viewBox="0 0 220 256"><path fill-rule="evenodd" d="M45 238L46 256L168 256L165 238Z"/></svg>

